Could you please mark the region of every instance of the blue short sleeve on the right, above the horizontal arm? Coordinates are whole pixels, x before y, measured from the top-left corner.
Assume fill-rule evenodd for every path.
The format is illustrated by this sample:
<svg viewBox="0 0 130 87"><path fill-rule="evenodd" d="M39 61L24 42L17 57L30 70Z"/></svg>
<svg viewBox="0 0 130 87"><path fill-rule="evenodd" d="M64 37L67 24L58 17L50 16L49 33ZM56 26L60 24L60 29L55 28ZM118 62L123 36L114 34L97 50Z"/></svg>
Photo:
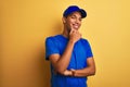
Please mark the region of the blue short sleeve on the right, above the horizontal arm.
<svg viewBox="0 0 130 87"><path fill-rule="evenodd" d="M84 49L86 49L87 58L93 57L91 46L90 46L88 40L86 40L86 39L83 40L83 46L84 46Z"/></svg>

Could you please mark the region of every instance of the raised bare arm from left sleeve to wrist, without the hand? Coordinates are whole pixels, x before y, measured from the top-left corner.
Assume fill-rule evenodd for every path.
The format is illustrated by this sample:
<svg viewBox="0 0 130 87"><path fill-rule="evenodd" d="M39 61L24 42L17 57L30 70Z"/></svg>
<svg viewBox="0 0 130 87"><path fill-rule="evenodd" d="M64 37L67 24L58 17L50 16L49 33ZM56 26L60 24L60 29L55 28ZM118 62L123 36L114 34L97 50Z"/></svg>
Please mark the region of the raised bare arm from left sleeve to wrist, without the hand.
<svg viewBox="0 0 130 87"><path fill-rule="evenodd" d="M56 72L63 74L64 71L67 69L70 61L73 48L74 48L74 42L68 41L67 47L62 55L51 54L49 57Z"/></svg>

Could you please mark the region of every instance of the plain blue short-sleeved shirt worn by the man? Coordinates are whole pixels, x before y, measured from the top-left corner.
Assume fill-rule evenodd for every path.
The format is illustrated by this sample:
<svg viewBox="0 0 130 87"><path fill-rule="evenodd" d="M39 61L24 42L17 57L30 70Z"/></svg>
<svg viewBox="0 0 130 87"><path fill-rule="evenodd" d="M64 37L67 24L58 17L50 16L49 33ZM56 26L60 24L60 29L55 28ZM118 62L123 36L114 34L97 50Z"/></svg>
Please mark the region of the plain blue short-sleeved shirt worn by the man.
<svg viewBox="0 0 130 87"><path fill-rule="evenodd" d="M56 35L46 39L46 60L51 54L62 55L68 42L68 38ZM78 40L72 53L70 62L67 70L81 70L87 67L87 59L93 57L91 47L86 39ZM51 87L87 87L87 77L70 77L54 73L51 64Z"/></svg>

